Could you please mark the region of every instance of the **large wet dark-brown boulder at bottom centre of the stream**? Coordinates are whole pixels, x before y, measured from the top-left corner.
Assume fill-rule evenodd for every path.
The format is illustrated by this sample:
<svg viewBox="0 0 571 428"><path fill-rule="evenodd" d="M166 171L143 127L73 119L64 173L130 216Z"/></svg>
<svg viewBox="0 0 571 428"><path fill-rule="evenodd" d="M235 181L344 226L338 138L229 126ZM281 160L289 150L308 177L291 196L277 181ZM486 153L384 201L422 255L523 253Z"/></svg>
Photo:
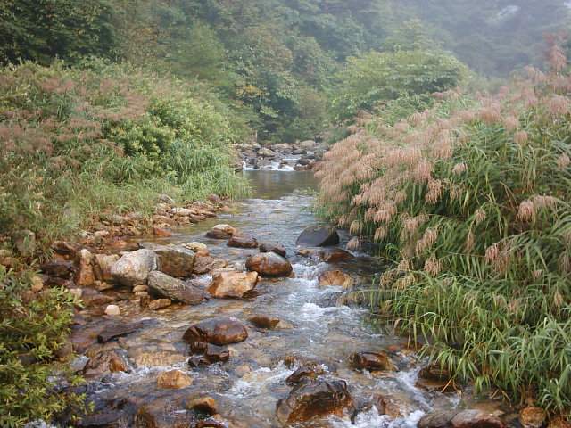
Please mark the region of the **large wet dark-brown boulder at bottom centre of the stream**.
<svg viewBox="0 0 571 428"><path fill-rule="evenodd" d="M315 416L342 416L352 407L352 397L344 381L300 383L286 399L277 401L277 419L282 424L309 421Z"/></svg>

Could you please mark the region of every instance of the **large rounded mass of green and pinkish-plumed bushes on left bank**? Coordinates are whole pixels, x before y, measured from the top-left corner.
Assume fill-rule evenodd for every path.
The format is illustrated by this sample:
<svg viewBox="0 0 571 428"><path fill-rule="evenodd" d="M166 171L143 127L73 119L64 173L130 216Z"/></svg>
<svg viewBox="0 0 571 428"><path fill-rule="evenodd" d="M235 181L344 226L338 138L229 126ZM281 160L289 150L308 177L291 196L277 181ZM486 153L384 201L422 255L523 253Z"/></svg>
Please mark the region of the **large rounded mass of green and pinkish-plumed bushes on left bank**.
<svg viewBox="0 0 571 428"><path fill-rule="evenodd" d="M246 191L228 120L178 80L25 63L3 71L0 93L0 235L28 229L46 249L108 211L150 215L157 193Z"/></svg>

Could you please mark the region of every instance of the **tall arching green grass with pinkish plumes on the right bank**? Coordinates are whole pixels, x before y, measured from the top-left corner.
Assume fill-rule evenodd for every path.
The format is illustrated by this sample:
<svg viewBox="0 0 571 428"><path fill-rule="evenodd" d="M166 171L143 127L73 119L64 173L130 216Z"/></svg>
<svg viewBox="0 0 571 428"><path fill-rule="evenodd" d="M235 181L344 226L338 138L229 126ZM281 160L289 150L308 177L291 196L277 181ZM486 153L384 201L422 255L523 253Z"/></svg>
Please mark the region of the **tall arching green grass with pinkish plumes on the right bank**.
<svg viewBox="0 0 571 428"><path fill-rule="evenodd" d="M327 216L394 262L375 312L455 380L569 416L571 78L550 57L498 95L361 115L318 174Z"/></svg>

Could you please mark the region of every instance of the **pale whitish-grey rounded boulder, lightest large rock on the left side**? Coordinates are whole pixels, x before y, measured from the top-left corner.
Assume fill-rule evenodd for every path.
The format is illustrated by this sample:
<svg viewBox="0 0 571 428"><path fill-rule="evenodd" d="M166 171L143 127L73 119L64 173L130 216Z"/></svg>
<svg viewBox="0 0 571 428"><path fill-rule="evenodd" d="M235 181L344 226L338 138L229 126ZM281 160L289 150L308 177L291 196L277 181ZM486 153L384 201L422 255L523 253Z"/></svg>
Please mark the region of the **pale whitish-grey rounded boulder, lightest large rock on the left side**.
<svg viewBox="0 0 571 428"><path fill-rule="evenodd" d="M119 284L146 284L149 273L157 268L157 256L151 250L137 250L123 254L112 266L112 278Z"/></svg>

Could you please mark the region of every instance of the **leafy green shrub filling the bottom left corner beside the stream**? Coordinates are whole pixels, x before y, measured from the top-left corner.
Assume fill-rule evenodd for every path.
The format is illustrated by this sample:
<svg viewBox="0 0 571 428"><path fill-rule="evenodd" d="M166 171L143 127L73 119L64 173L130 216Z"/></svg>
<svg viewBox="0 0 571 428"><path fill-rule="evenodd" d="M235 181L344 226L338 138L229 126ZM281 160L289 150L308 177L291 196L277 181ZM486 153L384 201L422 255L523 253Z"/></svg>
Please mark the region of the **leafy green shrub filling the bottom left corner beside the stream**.
<svg viewBox="0 0 571 428"><path fill-rule="evenodd" d="M6 428L49 420L81 401L56 387L79 383L55 358L70 333L73 298L57 288L32 298L32 276L0 266L0 426Z"/></svg>

